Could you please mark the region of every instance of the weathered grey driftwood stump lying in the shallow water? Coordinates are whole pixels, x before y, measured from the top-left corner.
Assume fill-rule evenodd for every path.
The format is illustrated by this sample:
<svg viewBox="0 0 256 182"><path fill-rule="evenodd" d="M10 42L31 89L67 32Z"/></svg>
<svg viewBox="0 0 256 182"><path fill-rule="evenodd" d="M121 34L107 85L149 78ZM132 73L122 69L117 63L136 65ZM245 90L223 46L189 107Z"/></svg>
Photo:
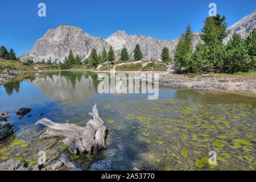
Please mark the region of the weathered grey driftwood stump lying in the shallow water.
<svg viewBox="0 0 256 182"><path fill-rule="evenodd" d="M42 139L46 137L66 137L63 143L73 154L76 154L77 150L97 154L98 150L106 148L106 126L98 115L97 104L93 106L92 113L89 114L92 115L93 119L90 119L85 127L67 123L59 124L47 118L39 119L35 125L42 124L46 126L46 131L40 136Z"/></svg>

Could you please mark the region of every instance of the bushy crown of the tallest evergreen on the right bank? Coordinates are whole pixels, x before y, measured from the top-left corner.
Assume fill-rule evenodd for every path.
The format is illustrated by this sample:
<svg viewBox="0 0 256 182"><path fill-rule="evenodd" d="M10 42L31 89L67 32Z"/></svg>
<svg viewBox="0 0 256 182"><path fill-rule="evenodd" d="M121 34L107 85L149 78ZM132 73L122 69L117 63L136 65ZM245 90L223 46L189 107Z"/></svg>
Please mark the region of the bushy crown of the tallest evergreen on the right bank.
<svg viewBox="0 0 256 182"><path fill-rule="evenodd" d="M225 15L221 18L220 14L209 16L204 20L204 27L201 29L203 34L200 36L206 45L212 46L220 43L228 35L228 31L226 31L228 23L225 20Z"/></svg>

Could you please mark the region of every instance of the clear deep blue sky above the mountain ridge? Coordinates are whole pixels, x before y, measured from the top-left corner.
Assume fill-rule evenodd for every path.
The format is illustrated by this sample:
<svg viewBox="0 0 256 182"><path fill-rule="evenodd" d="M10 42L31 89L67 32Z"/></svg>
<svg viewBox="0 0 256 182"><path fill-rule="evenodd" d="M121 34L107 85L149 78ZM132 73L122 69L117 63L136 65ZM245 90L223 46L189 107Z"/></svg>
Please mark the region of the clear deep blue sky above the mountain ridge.
<svg viewBox="0 0 256 182"><path fill-rule="evenodd" d="M46 17L38 16L40 2L46 4ZM49 28L60 24L80 27L104 39L112 32L125 30L128 35L173 40L184 32L188 22L194 32L200 32L211 2L216 3L218 14L226 15L228 26L256 7L254 0L1 0L0 46L23 55Z"/></svg>

